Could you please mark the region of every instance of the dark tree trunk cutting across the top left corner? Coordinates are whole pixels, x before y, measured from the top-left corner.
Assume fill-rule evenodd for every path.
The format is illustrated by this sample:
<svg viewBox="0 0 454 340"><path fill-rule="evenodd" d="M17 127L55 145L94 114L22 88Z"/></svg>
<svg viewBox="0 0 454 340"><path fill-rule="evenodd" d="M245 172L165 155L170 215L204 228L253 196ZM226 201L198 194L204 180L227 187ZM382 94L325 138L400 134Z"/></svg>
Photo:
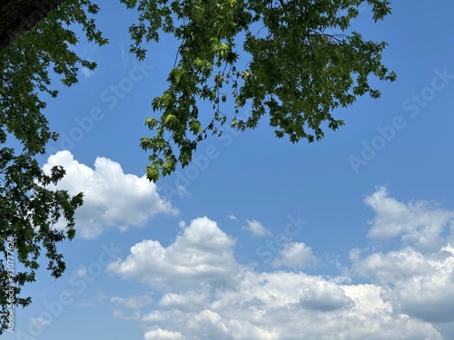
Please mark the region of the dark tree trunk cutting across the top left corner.
<svg viewBox="0 0 454 340"><path fill-rule="evenodd" d="M64 0L0 0L0 50L32 29Z"/></svg>

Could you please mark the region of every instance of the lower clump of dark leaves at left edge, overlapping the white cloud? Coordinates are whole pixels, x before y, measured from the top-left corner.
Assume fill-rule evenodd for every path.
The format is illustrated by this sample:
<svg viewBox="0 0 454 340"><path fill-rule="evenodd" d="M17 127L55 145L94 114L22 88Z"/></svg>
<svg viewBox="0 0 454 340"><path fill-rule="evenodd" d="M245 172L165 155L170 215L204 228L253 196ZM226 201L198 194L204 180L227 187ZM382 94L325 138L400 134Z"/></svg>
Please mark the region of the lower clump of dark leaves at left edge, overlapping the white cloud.
<svg viewBox="0 0 454 340"><path fill-rule="evenodd" d="M5 329L6 306L11 303L6 287L14 287L15 306L28 306L31 297L20 293L25 283L35 281L42 252L51 276L63 274L64 257L56 246L66 238L74 238L74 212L82 205L83 194L72 197L65 190L48 189L64 177L65 171L55 166L50 174L45 174L30 152L15 155L12 148L0 149L0 169L0 252L5 257L0 267L0 283L5 287L0 295L0 323ZM56 228L62 219L65 226ZM6 248L7 239L13 239L10 244L15 246L10 252ZM12 258L23 268L14 273L13 280L8 276L6 258Z"/></svg>

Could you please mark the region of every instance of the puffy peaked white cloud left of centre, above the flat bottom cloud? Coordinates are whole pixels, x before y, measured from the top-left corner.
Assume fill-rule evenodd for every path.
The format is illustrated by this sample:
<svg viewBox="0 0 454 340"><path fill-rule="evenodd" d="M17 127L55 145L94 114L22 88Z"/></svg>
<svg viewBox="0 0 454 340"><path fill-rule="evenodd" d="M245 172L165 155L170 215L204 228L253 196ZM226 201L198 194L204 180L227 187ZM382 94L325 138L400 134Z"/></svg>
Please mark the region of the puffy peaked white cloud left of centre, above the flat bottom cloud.
<svg viewBox="0 0 454 340"><path fill-rule="evenodd" d="M111 263L107 270L151 286L225 285L232 280L232 270L239 267L233 257L234 244L214 221L193 219L168 248L145 239L131 248L129 257Z"/></svg>

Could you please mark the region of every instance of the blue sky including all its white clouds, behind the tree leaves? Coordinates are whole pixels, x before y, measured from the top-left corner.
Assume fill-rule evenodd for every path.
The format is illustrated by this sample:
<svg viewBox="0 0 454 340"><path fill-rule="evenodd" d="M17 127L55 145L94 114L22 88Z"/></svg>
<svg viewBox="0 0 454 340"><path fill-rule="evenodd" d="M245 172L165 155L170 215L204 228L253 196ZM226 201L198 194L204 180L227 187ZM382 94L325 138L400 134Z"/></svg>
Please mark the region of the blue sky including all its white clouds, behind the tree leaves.
<svg viewBox="0 0 454 340"><path fill-rule="evenodd" d="M99 3L110 44L77 46L99 67L46 109L61 139L43 167L85 193L77 237L5 339L454 338L453 3L393 2L378 24L364 10L354 28L388 42L399 79L334 112L341 130L227 130L157 185L139 140L177 43L136 62L135 14Z"/></svg>

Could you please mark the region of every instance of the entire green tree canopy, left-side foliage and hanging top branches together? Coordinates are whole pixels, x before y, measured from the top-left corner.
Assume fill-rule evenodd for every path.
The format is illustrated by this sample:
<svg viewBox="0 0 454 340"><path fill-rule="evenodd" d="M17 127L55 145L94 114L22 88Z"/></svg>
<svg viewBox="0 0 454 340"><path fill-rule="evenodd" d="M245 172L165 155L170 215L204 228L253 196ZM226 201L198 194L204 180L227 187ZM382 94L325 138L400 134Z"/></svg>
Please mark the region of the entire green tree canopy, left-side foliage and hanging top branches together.
<svg viewBox="0 0 454 340"><path fill-rule="evenodd" d="M364 94L380 97L370 87L370 76L396 79L381 62L386 43L350 30L362 5L370 5L374 21L389 15L388 0L120 1L138 14L130 34L131 52L139 60L162 34L180 42L167 89L153 99L155 113L145 121L151 135L140 141L150 152L149 180L190 164L199 143L219 136L227 121L246 130L266 116L278 138L319 141L324 129L344 124L335 118L336 108L348 107ZM17 260L25 268L12 277L3 263L0 281L3 287L14 284L15 306L31 301L20 296L20 287L35 280L41 248L52 275L64 272L56 244L74 238L74 211L82 204L82 193L71 197L46 188L63 178L64 169L45 174L36 160L47 142L58 137L44 115L45 96L58 94L50 73L70 86L80 67L94 70L96 63L71 49L79 40L75 24L82 25L88 41L107 43L92 17L99 7L90 0L35 1L36 8L28 12L19 11L21 3L32 4L0 5L0 248L7 258L6 239L15 238ZM40 6L42 15L33 20L24 16ZM234 103L233 112L224 112L222 104L228 101ZM212 111L201 112L202 102L209 102ZM252 111L242 119L238 112L245 105ZM20 147L7 147L8 142ZM54 228L62 218L66 227ZM0 305L5 330L6 291Z"/></svg>

